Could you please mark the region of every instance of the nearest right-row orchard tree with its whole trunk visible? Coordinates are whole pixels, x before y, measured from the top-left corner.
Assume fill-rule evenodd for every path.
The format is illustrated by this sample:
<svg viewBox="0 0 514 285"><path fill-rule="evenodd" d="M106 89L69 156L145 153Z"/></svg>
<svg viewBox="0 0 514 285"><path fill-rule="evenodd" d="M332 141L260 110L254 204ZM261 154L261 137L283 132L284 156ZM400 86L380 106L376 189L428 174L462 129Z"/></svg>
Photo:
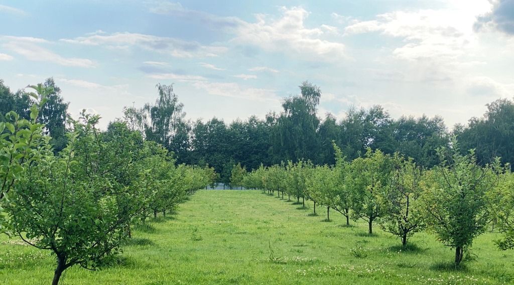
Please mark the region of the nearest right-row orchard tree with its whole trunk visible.
<svg viewBox="0 0 514 285"><path fill-rule="evenodd" d="M502 169L499 159L481 167L473 150L461 155L455 140L451 148L437 151L441 162L432 170L431 184L423 194L424 215L428 229L455 249L455 265L459 265L464 250L485 231L486 194L497 184Z"/></svg>

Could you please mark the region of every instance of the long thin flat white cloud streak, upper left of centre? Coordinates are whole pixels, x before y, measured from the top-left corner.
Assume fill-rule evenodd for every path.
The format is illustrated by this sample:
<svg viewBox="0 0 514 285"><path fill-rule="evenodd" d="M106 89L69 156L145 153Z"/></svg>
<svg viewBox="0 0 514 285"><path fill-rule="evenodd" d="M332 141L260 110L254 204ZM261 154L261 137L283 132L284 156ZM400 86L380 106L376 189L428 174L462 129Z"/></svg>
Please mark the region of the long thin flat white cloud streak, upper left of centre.
<svg viewBox="0 0 514 285"><path fill-rule="evenodd" d="M93 34L76 37L75 39L61 39L60 41L90 46L105 46L114 49L139 47L154 52L166 53L177 58L218 56L227 50L223 46L204 46L197 42L183 41L173 37L129 32Z"/></svg>

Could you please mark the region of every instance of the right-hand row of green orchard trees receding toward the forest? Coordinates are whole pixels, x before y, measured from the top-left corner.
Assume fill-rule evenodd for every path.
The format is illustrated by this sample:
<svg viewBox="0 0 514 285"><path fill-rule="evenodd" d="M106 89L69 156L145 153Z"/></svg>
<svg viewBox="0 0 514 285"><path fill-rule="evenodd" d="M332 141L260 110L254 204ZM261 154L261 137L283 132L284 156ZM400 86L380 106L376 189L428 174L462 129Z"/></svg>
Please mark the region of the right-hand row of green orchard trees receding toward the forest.
<svg viewBox="0 0 514 285"><path fill-rule="evenodd" d="M460 265L473 240L486 231L500 233L493 242L502 250L514 249L514 175L499 158L479 165L473 150L461 154L453 138L450 147L436 151L439 163L425 168L412 158L384 154L368 148L365 155L347 161L336 144L336 164L314 165L310 161L260 166L247 173L240 164L232 168L231 183L262 189L281 199L284 194L303 204L305 199L350 220L368 222L393 234L407 245L415 233L429 231L438 241L455 250ZM282 195L282 197L281 197ZM302 201L300 201L302 199ZM324 210L323 210L324 212ZM360 254L353 252L354 255Z"/></svg>

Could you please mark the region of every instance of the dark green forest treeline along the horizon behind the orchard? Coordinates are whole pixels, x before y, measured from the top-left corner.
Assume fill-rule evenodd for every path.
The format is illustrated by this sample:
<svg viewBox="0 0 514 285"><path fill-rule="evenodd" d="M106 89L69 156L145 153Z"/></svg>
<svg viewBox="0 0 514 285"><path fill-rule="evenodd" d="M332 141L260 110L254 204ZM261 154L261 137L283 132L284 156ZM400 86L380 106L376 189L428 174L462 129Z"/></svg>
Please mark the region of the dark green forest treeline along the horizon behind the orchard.
<svg viewBox="0 0 514 285"><path fill-rule="evenodd" d="M40 119L44 131L52 138L54 149L66 145L68 104L53 79L52 87ZM514 101L499 99L487 105L482 118L471 118L467 125L455 125L450 131L443 118L403 116L391 118L380 105L369 109L350 108L346 117L337 120L327 114L317 116L321 98L318 86L302 83L298 96L283 99L280 112L269 112L266 118L251 116L230 123L212 118L188 121L184 106L172 85L157 85L155 102L141 107L125 107L124 121L131 129L140 130L152 140L173 152L177 162L188 165L209 165L229 182L234 164L246 169L278 164L282 161L310 160L314 164L333 165L334 141L348 161L365 153L366 148L380 149L386 154L399 152L418 164L431 167L438 163L435 149L449 146L450 138L458 137L463 154L475 149L480 164L501 157L502 163L514 163ZM24 90L11 92L0 81L0 112L15 110L29 118L30 97Z"/></svg>

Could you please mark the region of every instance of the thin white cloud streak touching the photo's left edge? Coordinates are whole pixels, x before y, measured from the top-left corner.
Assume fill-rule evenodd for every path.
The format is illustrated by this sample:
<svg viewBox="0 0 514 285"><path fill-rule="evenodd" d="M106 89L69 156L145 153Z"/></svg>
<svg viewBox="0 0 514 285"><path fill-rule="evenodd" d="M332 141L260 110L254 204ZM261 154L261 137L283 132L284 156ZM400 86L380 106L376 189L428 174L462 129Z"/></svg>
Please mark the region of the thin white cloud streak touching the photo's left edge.
<svg viewBox="0 0 514 285"><path fill-rule="evenodd" d="M7 43L3 44L4 48L9 49L17 54L23 55L26 59L31 61L46 61L63 66L96 66L96 64L91 60L82 58L65 58L64 56L61 56L38 45L48 43L48 41L44 39L23 36L2 36L0 37L0 40L7 41Z"/></svg>

